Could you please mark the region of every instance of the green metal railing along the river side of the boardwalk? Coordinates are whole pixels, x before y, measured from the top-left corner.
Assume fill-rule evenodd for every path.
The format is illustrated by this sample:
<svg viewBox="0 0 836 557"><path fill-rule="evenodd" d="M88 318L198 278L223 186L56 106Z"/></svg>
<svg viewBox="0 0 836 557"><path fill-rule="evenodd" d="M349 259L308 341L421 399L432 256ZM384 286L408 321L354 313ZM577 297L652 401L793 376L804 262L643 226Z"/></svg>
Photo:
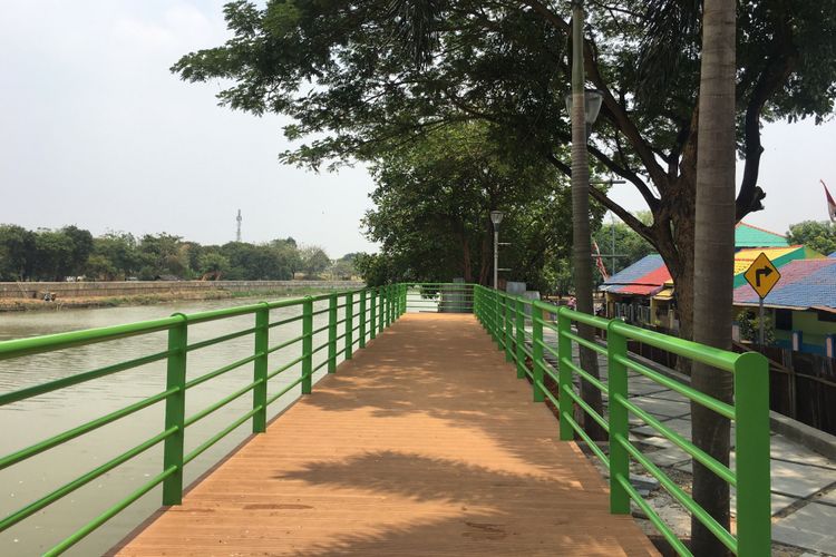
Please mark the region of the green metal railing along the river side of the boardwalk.
<svg viewBox="0 0 836 557"><path fill-rule="evenodd" d="M295 316L271 321L271 311L286 307L298 307L301 311ZM342 319L338 319L339 310L342 310ZM162 431L98 466L94 470L72 479L58 489L43 495L39 499L25 505L11 515L0 518L0 531L11 528L21 520L25 520L36 512L47 508L96 478L101 477L159 443L163 443L163 462L162 471L159 473L101 512L98 517L84 525L69 537L61 540L48 550L46 555L58 555L67 550L159 485L163 486L163 505L181 504L184 487L183 470L186 465L201 453L205 452L221 439L229 436L236 428L244 424L247 420L252 421L253 433L264 432L266 429L268 408L270 404L274 403L279 398L300 385L302 394L310 393L313 388L313 374L317 371L327 368L329 373L333 373L337 370L339 355L342 355L346 360L350 360L357 346L366 346L368 340L375 339L383 331L383 329L391 325L406 311L407 285L391 284L375 289L322 294L319 296L308 296L297 300L283 300L270 303L261 302L252 305L207 311L188 315L176 313L169 317L140 323L0 342L0 360L10 360L66 350L75 346L100 344L119 339L167 332L166 345L161 346L155 353L85 371L67 378L36 384L18 391L0 393L0 407L3 407L148 363L163 360L166 361L165 390L0 458L0 470L14 465L25 463L28 459L66 443L67 441L90 433L108 423L127 418L153 404L165 402L165 423ZM188 341L189 329L196 324L245 315L253 316L253 326L201 342L189 343ZM314 317L318 315L325 315L328 323L314 329ZM322 319L320 319L320 321L322 321ZM271 346L271 331L276 328L297 328L298 334L291 332L292 338L290 340ZM222 368L206 372L195 379L187 380L186 371L188 368L189 353L246 335L252 335L254 339L254 348L251 355L230 362ZM314 346L314 339L322 339L323 336L323 342ZM338 346L340 350L338 350ZM282 349L289 348L298 349L299 355L290 358L289 361L282 362L276 369L270 370L268 368L268 356ZM314 367L313 355L320 351L327 351L327 358ZM189 389L247 364L252 364L252 382L244 388L230 393L214 404L211 404L192 416L186 416L186 397ZM21 365L25 365L25 363L21 363ZM286 372L288 370L300 367L301 373L295 380L291 381L289 384L282 385L282 388L272 397L268 397L268 383L271 379L276 378L276 375ZM246 393L252 393L251 410L239 417L235 421L223 428L210 439L203 441L191 452L185 452L185 432L189 426L230 404L232 401L240 399Z"/></svg>

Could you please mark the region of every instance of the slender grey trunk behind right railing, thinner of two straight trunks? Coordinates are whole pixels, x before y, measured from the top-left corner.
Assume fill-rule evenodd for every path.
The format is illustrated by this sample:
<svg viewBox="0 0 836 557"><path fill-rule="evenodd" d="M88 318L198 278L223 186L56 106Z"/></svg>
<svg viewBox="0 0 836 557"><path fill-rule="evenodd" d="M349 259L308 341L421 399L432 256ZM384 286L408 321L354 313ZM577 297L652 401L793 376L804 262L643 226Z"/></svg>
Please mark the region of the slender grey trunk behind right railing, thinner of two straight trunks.
<svg viewBox="0 0 836 557"><path fill-rule="evenodd" d="M592 302L592 242L590 240L590 162L586 150L586 124L583 71L583 8L575 4L573 20L572 63L572 243L574 253L575 299L577 310L593 314ZM577 325L579 334L593 340L594 331L589 325ZM594 378L599 377L597 354L581 346L581 368ZM561 394L562 395L562 394ZM581 381L581 397L599 414L603 416L601 391L589 381ZM593 440L606 439L599 423L584 416L584 430Z"/></svg>

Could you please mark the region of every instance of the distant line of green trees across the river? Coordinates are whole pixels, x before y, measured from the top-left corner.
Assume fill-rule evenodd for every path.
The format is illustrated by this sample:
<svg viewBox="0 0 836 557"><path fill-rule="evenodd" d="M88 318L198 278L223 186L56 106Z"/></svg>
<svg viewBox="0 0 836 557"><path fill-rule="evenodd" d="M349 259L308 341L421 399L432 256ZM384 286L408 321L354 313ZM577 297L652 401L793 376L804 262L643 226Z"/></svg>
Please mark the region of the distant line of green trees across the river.
<svg viewBox="0 0 836 557"><path fill-rule="evenodd" d="M351 278L354 255L332 262L321 247L300 246L292 237L201 245L166 233L94 237L76 226L29 231L0 224L0 281L286 281L298 273Z"/></svg>

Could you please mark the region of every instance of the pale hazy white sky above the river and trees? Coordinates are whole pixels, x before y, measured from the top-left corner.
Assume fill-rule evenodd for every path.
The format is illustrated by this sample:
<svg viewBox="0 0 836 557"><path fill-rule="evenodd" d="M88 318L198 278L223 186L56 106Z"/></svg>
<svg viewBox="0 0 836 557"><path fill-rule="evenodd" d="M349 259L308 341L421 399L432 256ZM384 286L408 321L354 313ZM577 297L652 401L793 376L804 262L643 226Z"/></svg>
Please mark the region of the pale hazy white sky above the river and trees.
<svg viewBox="0 0 836 557"><path fill-rule="evenodd" d="M94 234L168 232L224 243L292 235L332 257L373 251L363 168L280 166L282 119L216 106L220 84L169 74L183 53L226 38L221 0L0 0L0 223L76 224ZM764 130L767 209L777 232L825 219L819 178L836 194L836 125ZM613 196L643 209L629 185Z"/></svg>

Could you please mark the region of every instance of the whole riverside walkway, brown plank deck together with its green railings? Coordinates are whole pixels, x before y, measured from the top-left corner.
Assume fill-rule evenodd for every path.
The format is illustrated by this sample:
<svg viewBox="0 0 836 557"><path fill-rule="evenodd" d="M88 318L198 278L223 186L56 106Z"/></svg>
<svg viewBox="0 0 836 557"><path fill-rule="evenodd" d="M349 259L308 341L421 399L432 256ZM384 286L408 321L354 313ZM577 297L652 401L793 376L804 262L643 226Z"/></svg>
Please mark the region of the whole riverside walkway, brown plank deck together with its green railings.
<svg viewBox="0 0 836 557"><path fill-rule="evenodd" d="M295 309L273 321L271 312ZM251 315L254 326L191 342L200 323ZM283 314L286 315L286 312ZM557 315L554 323L552 315ZM574 325L609 328L609 345L590 343ZM273 344L276 330L291 338ZM554 331L557 345L544 340ZM163 351L82 374L0 394L0 405L68 388L147 363L165 361L166 389L140 403L0 459L0 469L27 460L139 408L165 403L164 429L139 447L2 518L12 528L152 446L164 446L161 472L145 486L55 540L57 555L117 516L156 486L163 507L113 548L118 555L658 555L630 515L630 501L650 517L681 555L675 537L631 486L630 461L658 476L672 497L739 555L769 553L768 393L759 354L730 354L669 339L623 323L461 284L392 285L182 315L153 322L0 343L0 358L110 342L167 331ZM251 356L191 378L188 354L251 335ZM717 365L735 374L735 405L642 369L626 339ZM322 342L319 342L319 341ZM610 354L610 381L587 377L572 360L572 343ZM357 350L354 349L357 346ZM270 355L294 348L297 358L270 369ZM497 350L499 349L499 350ZM344 361L338 365L339 359ZM555 369L550 361L558 361ZM253 381L191 416L193 387L249 365ZM626 400L626 370L639 371L737 423L737 468L717 462ZM325 375L314 381L318 370ZM295 371L294 371L295 370ZM297 378L269 394L278 377ZM576 393L577 377L611 401L607 416ZM551 378L551 379L550 379ZM301 397L268 423L272 402L298 389ZM622 392L623 391L623 392ZM188 427L244 394L252 410L186 452ZM544 402L550 403L548 405ZM610 434L609 450L590 444L605 479L573 438L586 433L581 408ZM557 412L562 419L555 419ZM626 436L628 412L735 486L735 535L713 522L680 487L642 457ZM253 436L184 489L183 470L198 455L247 421ZM194 444L194 443L192 443ZM667 480L667 481L665 481ZM766 551L766 553L764 553Z"/></svg>

